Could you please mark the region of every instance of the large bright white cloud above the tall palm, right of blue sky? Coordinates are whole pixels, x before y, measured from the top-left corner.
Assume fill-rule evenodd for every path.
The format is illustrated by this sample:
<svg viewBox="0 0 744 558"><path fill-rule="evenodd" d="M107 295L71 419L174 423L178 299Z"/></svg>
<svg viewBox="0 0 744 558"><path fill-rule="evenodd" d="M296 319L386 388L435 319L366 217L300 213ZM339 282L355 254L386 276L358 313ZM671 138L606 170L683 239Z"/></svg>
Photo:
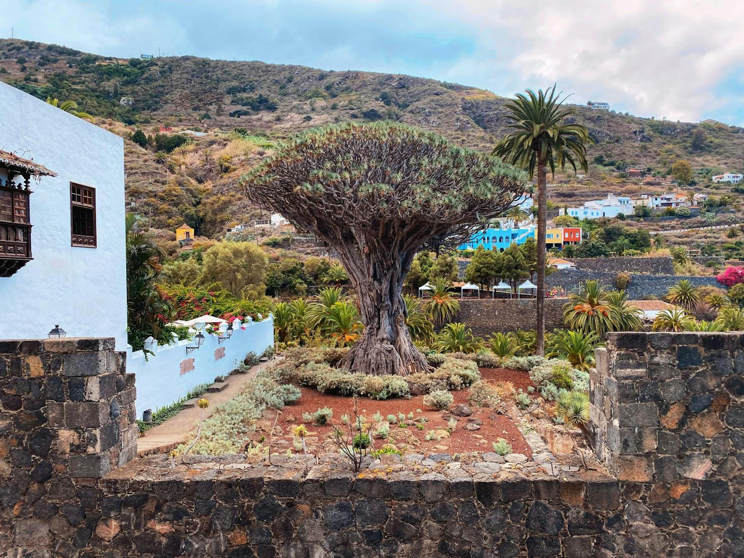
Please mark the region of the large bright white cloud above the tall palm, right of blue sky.
<svg viewBox="0 0 744 558"><path fill-rule="evenodd" d="M577 93L576 102L604 100L639 115L699 120L731 102L716 85L744 65L739 0L465 0L456 9L445 1L437 7L478 28L484 51L493 51L522 87L557 81ZM507 45L509 61L498 52ZM496 92L510 94L493 82Z"/></svg>

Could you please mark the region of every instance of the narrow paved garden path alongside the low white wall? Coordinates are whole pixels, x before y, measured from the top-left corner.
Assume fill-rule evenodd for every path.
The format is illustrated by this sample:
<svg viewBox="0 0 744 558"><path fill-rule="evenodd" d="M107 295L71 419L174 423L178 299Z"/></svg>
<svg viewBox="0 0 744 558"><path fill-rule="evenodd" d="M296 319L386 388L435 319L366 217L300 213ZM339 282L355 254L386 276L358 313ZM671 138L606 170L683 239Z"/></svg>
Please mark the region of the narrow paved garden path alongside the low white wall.
<svg viewBox="0 0 744 558"><path fill-rule="evenodd" d="M253 379L258 373L259 368L268 365L268 362L261 362L260 365L251 367L248 372L243 374L231 374L225 380L228 387L222 391L213 394L204 394L209 400L209 407L205 411L205 418L211 417L217 405L225 403L232 399L243 389L248 380ZM178 446L186 439L186 436L196 426L202 409L199 407L185 408L175 417L166 420L164 423L154 426L137 439L138 455L150 455L153 453L166 453Z"/></svg>

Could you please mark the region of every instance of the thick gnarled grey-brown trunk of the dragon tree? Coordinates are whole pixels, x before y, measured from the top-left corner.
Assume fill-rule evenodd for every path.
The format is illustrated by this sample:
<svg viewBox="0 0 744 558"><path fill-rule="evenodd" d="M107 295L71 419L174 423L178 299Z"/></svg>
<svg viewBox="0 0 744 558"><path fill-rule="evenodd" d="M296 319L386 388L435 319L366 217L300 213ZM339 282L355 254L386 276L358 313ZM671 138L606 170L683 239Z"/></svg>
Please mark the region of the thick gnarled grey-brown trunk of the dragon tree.
<svg viewBox="0 0 744 558"><path fill-rule="evenodd" d="M337 247L339 258L352 280L359 315L365 324L362 336L339 363L342 368L377 376L404 376L429 368L408 333L401 295L414 251L397 252L397 244L392 239L382 243L362 240L358 250L350 246Z"/></svg>

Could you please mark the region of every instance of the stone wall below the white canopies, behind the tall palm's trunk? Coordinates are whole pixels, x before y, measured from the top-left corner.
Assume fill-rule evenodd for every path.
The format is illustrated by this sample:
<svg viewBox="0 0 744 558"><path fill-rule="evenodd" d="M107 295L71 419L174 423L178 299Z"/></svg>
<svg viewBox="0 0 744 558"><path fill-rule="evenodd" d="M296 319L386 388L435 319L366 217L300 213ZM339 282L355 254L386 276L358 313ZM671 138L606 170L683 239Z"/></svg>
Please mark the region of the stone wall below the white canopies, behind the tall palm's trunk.
<svg viewBox="0 0 744 558"><path fill-rule="evenodd" d="M545 328L563 327L565 299L545 299ZM463 298L454 321L463 321L478 336L497 331L533 330L535 328L534 298Z"/></svg>

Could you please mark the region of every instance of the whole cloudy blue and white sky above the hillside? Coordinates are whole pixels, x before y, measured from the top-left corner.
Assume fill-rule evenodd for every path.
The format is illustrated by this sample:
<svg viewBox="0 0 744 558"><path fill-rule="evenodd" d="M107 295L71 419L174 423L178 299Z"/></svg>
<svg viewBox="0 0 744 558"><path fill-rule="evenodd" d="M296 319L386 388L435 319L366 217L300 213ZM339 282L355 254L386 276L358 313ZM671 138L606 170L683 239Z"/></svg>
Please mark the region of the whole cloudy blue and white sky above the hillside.
<svg viewBox="0 0 744 558"><path fill-rule="evenodd" d="M744 0L1 0L0 36L413 74L744 126Z"/></svg>

